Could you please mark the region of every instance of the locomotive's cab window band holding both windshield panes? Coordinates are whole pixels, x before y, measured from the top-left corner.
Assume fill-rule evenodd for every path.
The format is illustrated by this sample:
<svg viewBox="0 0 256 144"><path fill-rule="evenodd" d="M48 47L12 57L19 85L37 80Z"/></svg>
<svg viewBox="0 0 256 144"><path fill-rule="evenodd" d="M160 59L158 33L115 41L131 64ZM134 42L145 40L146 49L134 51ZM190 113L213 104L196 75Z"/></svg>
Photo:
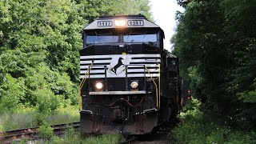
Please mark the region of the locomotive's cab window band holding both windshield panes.
<svg viewBox="0 0 256 144"><path fill-rule="evenodd" d="M146 43L151 46L160 47L159 31L157 29L107 29L107 30L85 30L83 34L83 46L86 48L91 45L106 45L106 44L133 44Z"/></svg>

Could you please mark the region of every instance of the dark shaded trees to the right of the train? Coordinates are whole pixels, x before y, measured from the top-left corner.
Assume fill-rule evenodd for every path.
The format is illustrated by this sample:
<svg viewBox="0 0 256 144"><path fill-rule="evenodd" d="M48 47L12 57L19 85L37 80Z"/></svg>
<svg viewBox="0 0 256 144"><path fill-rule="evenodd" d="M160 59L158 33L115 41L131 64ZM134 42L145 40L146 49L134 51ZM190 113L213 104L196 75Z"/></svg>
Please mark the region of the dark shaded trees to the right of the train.
<svg viewBox="0 0 256 144"><path fill-rule="evenodd" d="M174 53L206 113L255 130L256 2L178 0Z"/></svg>

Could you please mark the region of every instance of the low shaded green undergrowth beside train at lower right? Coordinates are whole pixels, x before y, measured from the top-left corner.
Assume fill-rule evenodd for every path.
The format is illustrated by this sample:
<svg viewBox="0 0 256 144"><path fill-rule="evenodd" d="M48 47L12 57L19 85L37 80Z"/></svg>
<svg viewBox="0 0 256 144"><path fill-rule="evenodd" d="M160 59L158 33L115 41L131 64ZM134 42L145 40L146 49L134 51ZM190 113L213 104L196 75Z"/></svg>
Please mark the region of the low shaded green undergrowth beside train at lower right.
<svg viewBox="0 0 256 144"><path fill-rule="evenodd" d="M181 114L181 123L171 131L168 138L177 143L255 143L253 131L236 130L220 117L204 114L198 110L198 101L193 99ZM188 108L189 107L189 108Z"/></svg>

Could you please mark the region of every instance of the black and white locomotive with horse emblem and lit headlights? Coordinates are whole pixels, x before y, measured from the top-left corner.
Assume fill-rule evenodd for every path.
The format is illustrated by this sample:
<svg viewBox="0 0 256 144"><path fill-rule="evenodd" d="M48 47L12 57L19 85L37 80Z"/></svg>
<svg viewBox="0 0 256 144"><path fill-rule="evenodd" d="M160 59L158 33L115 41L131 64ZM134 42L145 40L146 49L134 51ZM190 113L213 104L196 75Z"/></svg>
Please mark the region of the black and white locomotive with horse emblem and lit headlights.
<svg viewBox="0 0 256 144"><path fill-rule="evenodd" d="M144 15L101 16L82 30L78 104L85 134L150 134L182 108L178 57Z"/></svg>

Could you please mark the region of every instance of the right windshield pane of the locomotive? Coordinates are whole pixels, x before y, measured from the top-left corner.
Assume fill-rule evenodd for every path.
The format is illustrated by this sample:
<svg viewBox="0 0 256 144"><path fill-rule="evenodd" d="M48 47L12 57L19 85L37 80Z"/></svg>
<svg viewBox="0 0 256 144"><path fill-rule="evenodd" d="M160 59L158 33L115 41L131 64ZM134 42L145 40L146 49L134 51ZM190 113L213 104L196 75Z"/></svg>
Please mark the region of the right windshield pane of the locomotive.
<svg viewBox="0 0 256 144"><path fill-rule="evenodd" d="M157 34L133 34L124 35L124 42L157 42Z"/></svg>

